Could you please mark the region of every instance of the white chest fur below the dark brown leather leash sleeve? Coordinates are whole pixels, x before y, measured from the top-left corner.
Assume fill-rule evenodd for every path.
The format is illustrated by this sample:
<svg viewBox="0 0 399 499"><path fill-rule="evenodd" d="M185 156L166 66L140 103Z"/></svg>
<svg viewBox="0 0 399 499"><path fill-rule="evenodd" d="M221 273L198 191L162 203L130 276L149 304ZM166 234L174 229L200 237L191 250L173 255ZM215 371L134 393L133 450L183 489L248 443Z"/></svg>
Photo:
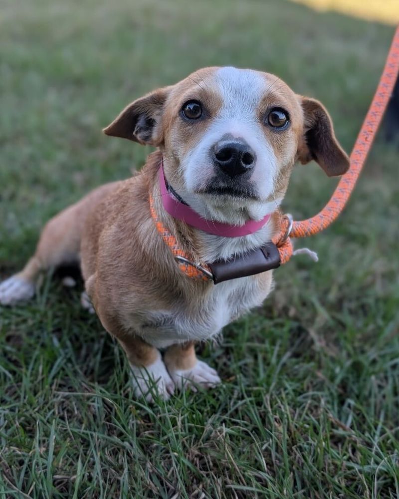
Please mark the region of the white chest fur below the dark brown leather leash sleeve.
<svg viewBox="0 0 399 499"><path fill-rule="evenodd" d="M259 279L241 277L212 285L204 297L190 302L179 301L169 310L142 312L140 318L135 317L135 330L157 348L190 340L207 340L262 303L271 289L271 272L268 274L262 286L259 286Z"/></svg>

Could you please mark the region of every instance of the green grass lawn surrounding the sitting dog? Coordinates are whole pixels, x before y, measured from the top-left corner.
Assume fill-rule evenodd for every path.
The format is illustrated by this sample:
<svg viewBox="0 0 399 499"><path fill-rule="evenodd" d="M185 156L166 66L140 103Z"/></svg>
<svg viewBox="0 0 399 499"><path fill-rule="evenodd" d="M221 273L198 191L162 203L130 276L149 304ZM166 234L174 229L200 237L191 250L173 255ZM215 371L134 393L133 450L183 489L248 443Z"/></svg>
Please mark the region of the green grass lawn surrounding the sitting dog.
<svg viewBox="0 0 399 499"><path fill-rule="evenodd" d="M149 149L101 134L130 100L211 64L265 69L330 109L351 149L393 28L280 0L4 0L0 276L40 227ZM399 497L398 150L380 136L348 209L201 347L223 384L147 406L77 288L0 309L0 497ZM285 208L335 182L298 166Z"/></svg>

